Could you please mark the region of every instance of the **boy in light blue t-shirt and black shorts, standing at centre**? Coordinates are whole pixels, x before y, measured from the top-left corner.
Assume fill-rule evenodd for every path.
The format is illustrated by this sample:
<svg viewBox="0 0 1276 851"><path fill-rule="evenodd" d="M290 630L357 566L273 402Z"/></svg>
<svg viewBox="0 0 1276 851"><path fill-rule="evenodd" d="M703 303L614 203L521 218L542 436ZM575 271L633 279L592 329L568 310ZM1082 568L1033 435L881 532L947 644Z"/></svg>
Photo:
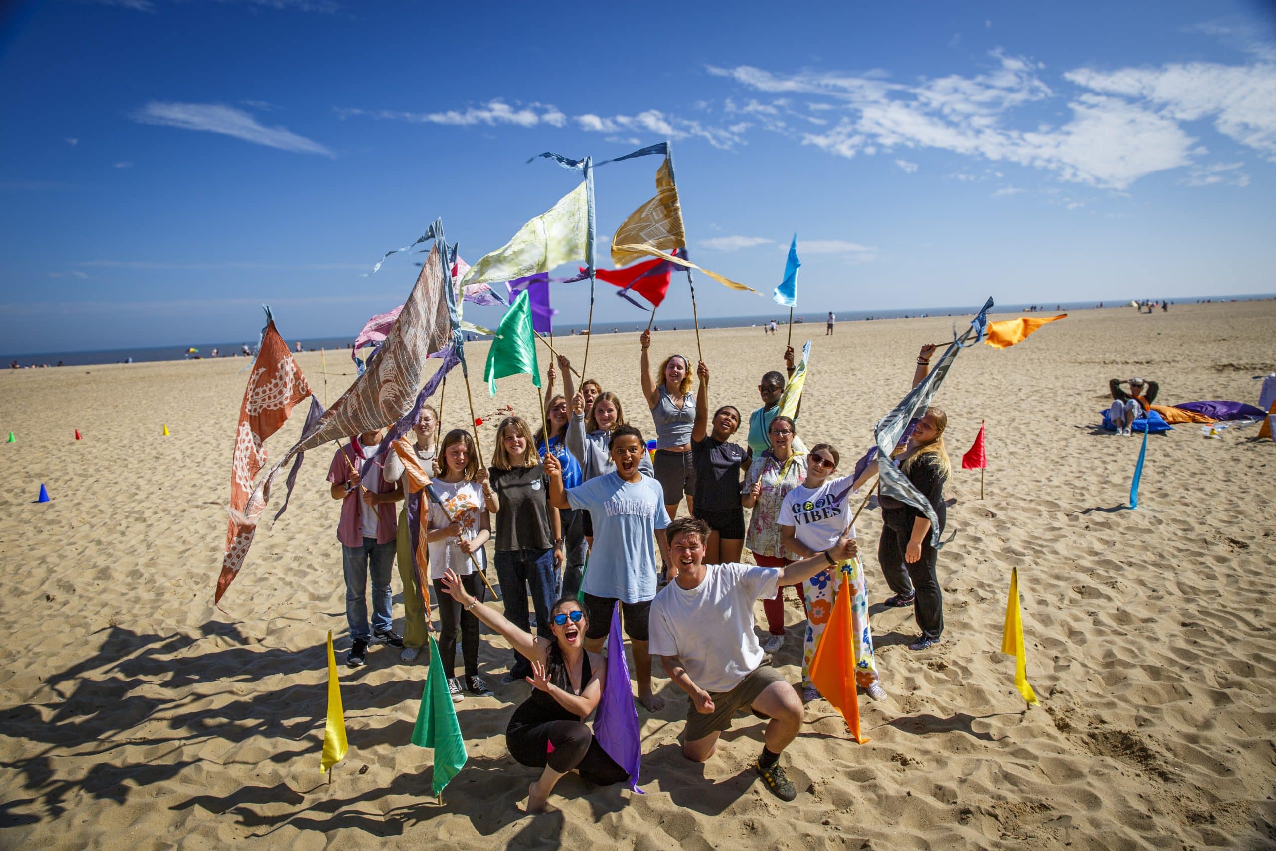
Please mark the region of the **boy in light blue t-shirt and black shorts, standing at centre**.
<svg viewBox="0 0 1276 851"><path fill-rule="evenodd" d="M611 433L609 450L616 464L615 471L570 490L563 486L563 468L558 458L553 453L546 455L550 504L559 509L583 508L593 519L591 564L581 586L584 614L590 619L584 648L591 653L602 651L602 640L611 629L611 612L619 601L625 634L633 643L638 702L648 711L658 712L665 702L651 689L647 616L656 596L656 540L660 541L664 560L669 563L665 491L658 481L638 467L647 452L638 429L618 426Z"/></svg>

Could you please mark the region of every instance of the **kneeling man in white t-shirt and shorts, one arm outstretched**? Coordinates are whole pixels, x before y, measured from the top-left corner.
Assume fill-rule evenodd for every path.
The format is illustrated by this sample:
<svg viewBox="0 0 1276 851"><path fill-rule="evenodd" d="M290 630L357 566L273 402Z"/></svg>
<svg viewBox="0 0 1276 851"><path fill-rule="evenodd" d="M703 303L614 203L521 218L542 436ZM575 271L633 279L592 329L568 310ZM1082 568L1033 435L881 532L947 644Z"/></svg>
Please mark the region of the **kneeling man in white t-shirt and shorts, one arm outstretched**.
<svg viewBox="0 0 1276 851"><path fill-rule="evenodd" d="M769 665L753 632L753 602L776 595L777 586L799 584L820 570L854 559L855 541L843 536L827 552L783 568L704 564L708 526L685 517L669 524L671 561L678 578L656 595L648 619L651 653L686 692L683 755L704 762L739 709L769 720L757 769L767 788L791 801L798 796L780 766L780 753L801 730L801 700Z"/></svg>

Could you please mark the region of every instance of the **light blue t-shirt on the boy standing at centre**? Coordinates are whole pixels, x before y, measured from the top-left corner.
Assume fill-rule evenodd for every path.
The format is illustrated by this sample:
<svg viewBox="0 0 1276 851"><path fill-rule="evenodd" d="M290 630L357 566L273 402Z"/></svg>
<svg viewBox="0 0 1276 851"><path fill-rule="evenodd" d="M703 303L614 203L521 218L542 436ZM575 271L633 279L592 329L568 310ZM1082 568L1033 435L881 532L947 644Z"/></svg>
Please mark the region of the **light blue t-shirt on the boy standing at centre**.
<svg viewBox="0 0 1276 851"><path fill-rule="evenodd" d="M581 589L595 597L644 602L656 596L656 529L669 526L665 490L643 473L627 482L604 473L567 491L572 508L593 519L593 549Z"/></svg>

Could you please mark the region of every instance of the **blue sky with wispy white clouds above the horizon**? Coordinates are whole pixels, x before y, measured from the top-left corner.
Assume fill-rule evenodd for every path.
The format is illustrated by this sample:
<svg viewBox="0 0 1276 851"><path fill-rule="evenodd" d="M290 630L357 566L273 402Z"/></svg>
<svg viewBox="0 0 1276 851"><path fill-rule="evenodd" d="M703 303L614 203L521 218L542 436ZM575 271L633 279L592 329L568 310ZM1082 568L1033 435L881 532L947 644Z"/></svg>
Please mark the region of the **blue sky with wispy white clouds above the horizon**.
<svg viewBox="0 0 1276 851"><path fill-rule="evenodd" d="M572 189L528 156L665 138L693 259L769 295L796 231L809 316L1276 290L1265 5L533 5L8 4L4 348L249 339L263 301L290 338L353 336L415 279L373 263L434 217L473 262ZM657 165L597 171L600 233ZM596 322L644 318L600 286Z"/></svg>

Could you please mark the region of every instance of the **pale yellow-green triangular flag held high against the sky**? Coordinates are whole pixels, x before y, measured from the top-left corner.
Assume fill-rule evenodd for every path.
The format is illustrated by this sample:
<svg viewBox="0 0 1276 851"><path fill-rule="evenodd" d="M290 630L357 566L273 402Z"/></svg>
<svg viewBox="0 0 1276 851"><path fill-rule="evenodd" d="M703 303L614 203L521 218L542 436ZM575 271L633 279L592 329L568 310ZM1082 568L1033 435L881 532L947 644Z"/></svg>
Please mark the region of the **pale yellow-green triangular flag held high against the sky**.
<svg viewBox="0 0 1276 851"><path fill-rule="evenodd" d="M526 278L537 272L586 258L588 242L586 181L554 207L518 228L509 242L470 267L461 278L464 291L475 283Z"/></svg>

